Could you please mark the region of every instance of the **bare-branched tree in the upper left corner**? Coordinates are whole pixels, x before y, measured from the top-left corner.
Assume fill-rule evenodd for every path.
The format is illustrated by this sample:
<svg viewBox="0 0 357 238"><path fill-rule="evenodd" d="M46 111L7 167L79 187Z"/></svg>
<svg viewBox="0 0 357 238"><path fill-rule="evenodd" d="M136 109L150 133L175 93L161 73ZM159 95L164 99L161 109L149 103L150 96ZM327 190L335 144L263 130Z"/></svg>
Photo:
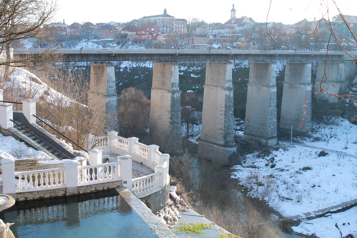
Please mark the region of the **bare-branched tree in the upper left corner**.
<svg viewBox="0 0 357 238"><path fill-rule="evenodd" d="M46 0L0 1L0 53L6 53L6 60L0 61L0 65L36 67L34 62L54 61L53 48L25 57L12 57L11 48L21 48L24 40L28 39L50 40L46 24L49 24L55 9L56 4Z"/></svg>

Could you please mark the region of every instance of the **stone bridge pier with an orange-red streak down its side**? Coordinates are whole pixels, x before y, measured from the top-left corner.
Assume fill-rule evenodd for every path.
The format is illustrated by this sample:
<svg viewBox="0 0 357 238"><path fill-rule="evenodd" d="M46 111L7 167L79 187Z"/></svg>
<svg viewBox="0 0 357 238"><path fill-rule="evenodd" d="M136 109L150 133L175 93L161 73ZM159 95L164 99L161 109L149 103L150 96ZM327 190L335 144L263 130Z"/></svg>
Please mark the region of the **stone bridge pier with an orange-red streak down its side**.
<svg viewBox="0 0 357 238"><path fill-rule="evenodd" d="M282 130L311 130L311 63L286 64L280 115Z"/></svg>

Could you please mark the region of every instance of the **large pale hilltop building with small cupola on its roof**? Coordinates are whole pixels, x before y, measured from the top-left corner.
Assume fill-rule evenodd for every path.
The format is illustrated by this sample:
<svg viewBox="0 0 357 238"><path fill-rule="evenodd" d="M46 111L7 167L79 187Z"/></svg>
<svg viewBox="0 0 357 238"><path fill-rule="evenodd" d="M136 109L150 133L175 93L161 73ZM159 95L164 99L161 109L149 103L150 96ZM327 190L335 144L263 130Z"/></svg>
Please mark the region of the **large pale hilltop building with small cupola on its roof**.
<svg viewBox="0 0 357 238"><path fill-rule="evenodd" d="M137 20L139 25L157 25L157 29L162 33L181 31L187 33L187 21L185 19L176 19L167 14L166 8L164 14L144 16Z"/></svg>

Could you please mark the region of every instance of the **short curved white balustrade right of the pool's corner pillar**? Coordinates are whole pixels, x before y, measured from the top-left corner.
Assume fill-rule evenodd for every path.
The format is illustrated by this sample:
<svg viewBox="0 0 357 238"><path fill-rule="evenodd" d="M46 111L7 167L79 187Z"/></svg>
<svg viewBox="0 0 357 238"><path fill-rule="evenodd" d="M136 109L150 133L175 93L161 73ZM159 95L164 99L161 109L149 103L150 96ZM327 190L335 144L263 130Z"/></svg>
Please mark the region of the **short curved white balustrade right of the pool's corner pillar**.
<svg viewBox="0 0 357 238"><path fill-rule="evenodd" d="M161 172L152 173L140 178L132 179L133 192L135 195L150 194L155 188L160 187Z"/></svg>

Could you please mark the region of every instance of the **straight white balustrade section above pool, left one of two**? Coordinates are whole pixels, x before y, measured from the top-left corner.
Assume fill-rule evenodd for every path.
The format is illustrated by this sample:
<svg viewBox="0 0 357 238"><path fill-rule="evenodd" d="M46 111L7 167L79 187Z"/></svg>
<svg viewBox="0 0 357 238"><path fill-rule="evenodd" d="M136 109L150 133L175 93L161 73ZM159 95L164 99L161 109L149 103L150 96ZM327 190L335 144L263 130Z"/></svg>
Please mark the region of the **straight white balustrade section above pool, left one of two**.
<svg viewBox="0 0 357 238"><path fill-rule="evenodd" d="M15 172L19 179L16 192L65 187L64 173L65 167Z"/></svg>

